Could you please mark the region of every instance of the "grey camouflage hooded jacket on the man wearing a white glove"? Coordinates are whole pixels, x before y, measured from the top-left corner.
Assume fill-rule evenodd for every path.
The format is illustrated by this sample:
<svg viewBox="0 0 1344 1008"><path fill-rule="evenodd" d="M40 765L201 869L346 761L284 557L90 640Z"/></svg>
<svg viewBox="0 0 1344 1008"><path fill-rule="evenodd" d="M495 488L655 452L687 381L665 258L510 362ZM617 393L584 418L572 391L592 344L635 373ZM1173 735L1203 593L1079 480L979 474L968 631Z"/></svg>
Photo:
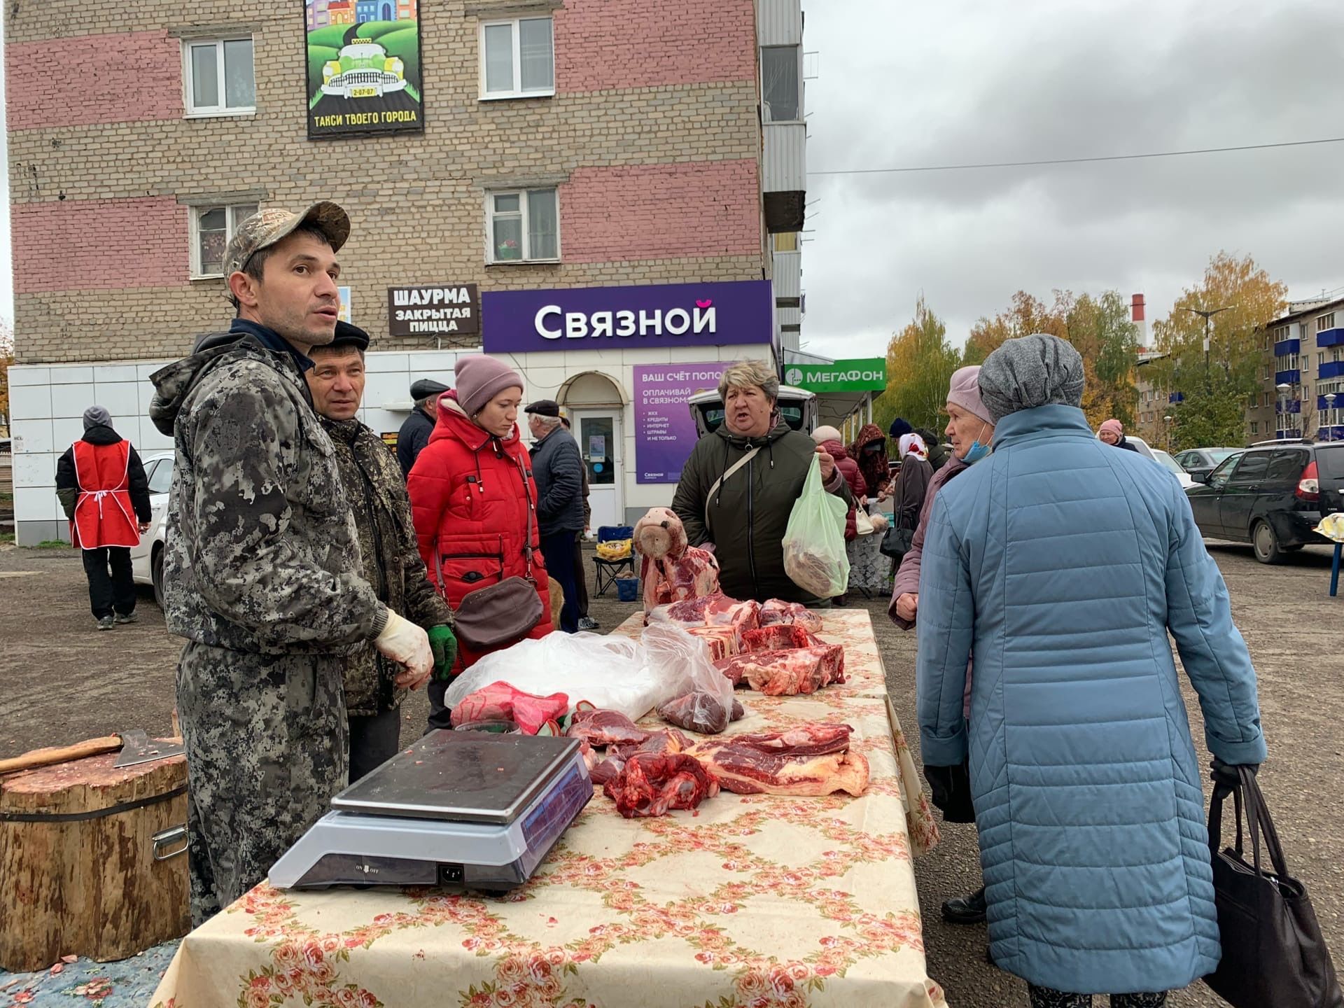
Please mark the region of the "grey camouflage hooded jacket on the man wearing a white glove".
<svg viewBox="0 0 1344 1008"><path fill-rule="evenodd" d="M233 339L228 339L233 336ZM293 358L230 333L151 375L172 431L164 609L181 637L259 655L349 655L387 609L360 577L336 450Z"/></svg>

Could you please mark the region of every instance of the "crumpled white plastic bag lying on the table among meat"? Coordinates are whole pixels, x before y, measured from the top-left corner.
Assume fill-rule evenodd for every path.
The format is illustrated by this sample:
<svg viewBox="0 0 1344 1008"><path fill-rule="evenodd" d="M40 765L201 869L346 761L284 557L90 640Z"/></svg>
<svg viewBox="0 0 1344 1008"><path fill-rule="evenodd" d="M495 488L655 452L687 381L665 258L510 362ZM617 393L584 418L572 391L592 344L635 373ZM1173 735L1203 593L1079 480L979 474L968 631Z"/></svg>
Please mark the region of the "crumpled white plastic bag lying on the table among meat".
<svg viewBox="0 0 1344 1008"><path fill-rule="evenodd" d="M570 714L579 700L587 700L630 720L672 696L672 685L649 667L640 642L616 634L551 633L492 652L453 680L444 706L456 707L491 683L508 683L538 696L564 694Z"/></svg>

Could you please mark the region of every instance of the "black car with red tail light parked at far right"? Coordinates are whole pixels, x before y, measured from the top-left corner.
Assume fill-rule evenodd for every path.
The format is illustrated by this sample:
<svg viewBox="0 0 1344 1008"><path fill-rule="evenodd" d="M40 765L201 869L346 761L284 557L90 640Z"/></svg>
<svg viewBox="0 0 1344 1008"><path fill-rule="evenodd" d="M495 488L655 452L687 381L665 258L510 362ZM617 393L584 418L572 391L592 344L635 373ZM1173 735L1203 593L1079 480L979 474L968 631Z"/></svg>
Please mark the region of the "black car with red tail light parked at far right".
<svg viewBox="0 0 1344 1008"><path fill-rule="evenodd" d="M1261 563L1281 563L1304 546L1329 543L1312 530L1324 515L1344 511L1344 441L1254 445L1202 484L1185 491L1199 531L1250 543Z"/></svg>

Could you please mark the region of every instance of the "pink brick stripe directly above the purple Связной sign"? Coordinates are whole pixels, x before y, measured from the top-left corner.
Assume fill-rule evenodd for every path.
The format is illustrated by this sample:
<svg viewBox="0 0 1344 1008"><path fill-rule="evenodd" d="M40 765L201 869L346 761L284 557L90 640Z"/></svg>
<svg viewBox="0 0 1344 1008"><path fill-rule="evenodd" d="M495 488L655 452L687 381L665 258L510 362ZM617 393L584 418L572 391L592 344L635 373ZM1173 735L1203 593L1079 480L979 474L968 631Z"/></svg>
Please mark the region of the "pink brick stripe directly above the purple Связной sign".
<svg viewBox="0 0 1344 1008"><path fill-rule="evenodd" d="M560 188L560 258L755 255L758 203L753 159L578 168Z"/></svg>

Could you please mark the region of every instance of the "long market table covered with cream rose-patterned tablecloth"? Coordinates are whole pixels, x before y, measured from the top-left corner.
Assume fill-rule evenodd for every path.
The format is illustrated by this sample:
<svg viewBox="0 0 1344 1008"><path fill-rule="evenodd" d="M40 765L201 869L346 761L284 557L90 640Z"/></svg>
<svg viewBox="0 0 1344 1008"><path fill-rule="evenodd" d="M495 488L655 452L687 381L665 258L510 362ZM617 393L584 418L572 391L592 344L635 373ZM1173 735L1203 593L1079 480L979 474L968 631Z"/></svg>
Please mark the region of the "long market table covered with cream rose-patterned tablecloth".
<svg viewBox="0 0 1344 1008"><path fill-rule="evenodd" d="M730 731L852 724L872 771L862 798L723 792L625 820L598 793L503 898L262 884L183 939L152 1004L945 1008L911 860L937 827L867 613L828 612L821 636L844 642L849 681L743 692Z"/></svg>

